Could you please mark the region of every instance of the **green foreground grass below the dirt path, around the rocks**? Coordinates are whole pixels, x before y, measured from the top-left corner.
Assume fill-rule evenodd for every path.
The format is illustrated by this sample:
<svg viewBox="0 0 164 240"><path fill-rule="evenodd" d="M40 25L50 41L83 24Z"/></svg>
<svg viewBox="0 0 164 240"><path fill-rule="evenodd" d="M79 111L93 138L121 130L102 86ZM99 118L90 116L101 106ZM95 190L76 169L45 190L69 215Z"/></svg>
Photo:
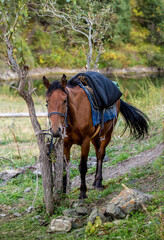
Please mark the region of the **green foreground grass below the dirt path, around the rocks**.
<svg viewBox="0 0 164 240"><path fill-rule="evenodd" d="M159 164L160 162L160 164ZM156 165L160 167L156 167ZM112 179L106 182L107 188L98 192L95 190L88 191L88 199L85 204L89 207L93 207L98 204L99 207L103 207L105 202L110 200L110 195L118 193L122 190L121 183L126 184L130 188L142 189L145 184L152 184L157 182L158 185L152 184L152 188L148 189L148 192L154 195L153 201L145 208L145 210L133 213L127 219L123 220L118 226L109 224L108 226L102 225L98 231L94 234L88 235L84 233L84 229L81 229L81 237L79 239L162 239L161 228L162 228L162 205L164 200L164 194L162 191L163 179L161 178L162 160L158 158L154 164L147 165L142 168L137 168L122 177ZM134 181L135 180L135 181ZM147 183L145 182L147 180ZM21 217L14 218L12 215L8 217L8 220L0 223L1 239L16 240L16 239L73 239L76 236L76 232L72 231L68 234L49 234L47 233L47 224L50 223L51 219L61 215L62 211L68 207L67 204L62 204L60 207L56 207L55 213L52 217L45 214L44 205L41 201L40 194L35 204L35 211L27 214L24 210L27 206L30 206L34 196L34 189L28 196L25 196L23 190L27 186L33 185L35 187L35 179L30 172L25 175L19 176L7 183L6 186L2 187L4 190L5 198L7 199L6 205L16 206L16 211L22 213ZM23 184L23 185L21 185ZM41 182L39 180L41 187ZM39 187L39 189L40 189ZM12 190L11 190L12 188ZM22 189L22 190L21 190ZM150 190L151 189L151 190ZM13 192L13 195L11 194ZM8 194L7 194L8 192ZM16 192L14 194L14 192ZM40 192L40 190L39 190ZM79 192L71 193L70 200L76 201ZM24 198L22 196L24 195ZM84 205L85 205L84 204ZM15 211L10 211L10 214ZM35 216L40 216L39 220ZM46 226L42 225L44 223ZM103 236L99 236L99 232L103 233ZM86 236L85 236L86 235ZM134 238L135 236L135 238ZM77 237L77 236L76 236Z"/></svg>

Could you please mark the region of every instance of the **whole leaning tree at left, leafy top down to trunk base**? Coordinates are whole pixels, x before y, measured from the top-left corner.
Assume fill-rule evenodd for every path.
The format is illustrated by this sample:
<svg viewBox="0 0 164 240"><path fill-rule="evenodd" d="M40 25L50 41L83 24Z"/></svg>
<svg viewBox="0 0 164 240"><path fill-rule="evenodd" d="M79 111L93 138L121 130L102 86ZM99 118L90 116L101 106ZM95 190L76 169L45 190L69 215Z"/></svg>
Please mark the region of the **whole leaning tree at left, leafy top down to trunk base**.
<svg viewBox="0 0 164 240"><path fill-rule="evenodd" d="M28 3L28 0L20 0L18 4L14 3L14 5L9 6L8 2L0 0L0 37L6 44L8 63L11 69L18 74L19 85L17 90L28 106L30 120L39 147L40 161L42 163L42 181L46 211L52 214L54 211L52 165L47 156L45 136L36 117L32 98L34 89L32 88L31 81L27 81L28 66L25 65L23 49L18 50L14 42L18 26L26 24L28 21ZM17 55L16 52L18 53Z"/></svg>

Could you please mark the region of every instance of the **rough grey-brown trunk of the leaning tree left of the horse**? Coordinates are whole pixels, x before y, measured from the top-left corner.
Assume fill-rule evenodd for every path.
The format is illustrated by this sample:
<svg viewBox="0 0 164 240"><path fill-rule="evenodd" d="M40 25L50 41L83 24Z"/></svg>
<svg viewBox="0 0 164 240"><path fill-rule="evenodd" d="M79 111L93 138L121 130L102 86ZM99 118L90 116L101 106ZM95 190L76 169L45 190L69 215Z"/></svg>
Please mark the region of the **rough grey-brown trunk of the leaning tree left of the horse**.
<svg viewBox="0 0 164 240"><path fill-rule="evenodd" d="M52 166L49 158L47 156L47 147L45 144L45 136L42 133L41 126L37 120L35 106L33 102L33 98L31 96L32 91L28 86L28 90L25 90L25 85L27 82L27 73L28 67L27 66L19 66L14 58L13 55L13 46L7 36L5 36L5 43L7 46L7 54L8 60L11 68L18 74L19 77L19 87L18 92L20 96L25 100L28 110L29 116L31 120L32 127L34 129L37 144L39 147L40 152L40 161L42 165L42 182L43 182L43 189L44 189L44 199L46 205L46 212L49 214L53 214L54 211L54 201L53 201L53 181L52 181Z"/></svg>

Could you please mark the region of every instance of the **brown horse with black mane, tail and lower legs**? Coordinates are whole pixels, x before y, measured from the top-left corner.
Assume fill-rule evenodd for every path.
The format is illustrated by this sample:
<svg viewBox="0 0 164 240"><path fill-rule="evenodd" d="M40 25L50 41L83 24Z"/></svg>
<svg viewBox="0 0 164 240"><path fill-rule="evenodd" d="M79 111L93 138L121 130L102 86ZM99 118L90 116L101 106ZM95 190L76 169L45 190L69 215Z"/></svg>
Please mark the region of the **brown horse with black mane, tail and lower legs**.
<svg viewBox="0 0 164 240"><path fill-rule="evenodd" d="M47 89L46 102L51 133L54 137L61 137L63 130L66 131L64 156L67 162L70 161L72 145L81 146L79 199L87 198L86 173L90 143L93 144L97 157L93 186L102 190L104 188L102 185L102 163L117 118L105 122L103 129L100 129L99 126L93 126L91 104L85 91L78 84L73 87L69 86L65 74L62 76L61 82L54 81L52 83L44 76L43 84ZM115 102L115 106L117 117L121 112L126 122L125 130L129 127L132 136L143 138L148 133L148 117L143 112L121 99Z"/></svg>

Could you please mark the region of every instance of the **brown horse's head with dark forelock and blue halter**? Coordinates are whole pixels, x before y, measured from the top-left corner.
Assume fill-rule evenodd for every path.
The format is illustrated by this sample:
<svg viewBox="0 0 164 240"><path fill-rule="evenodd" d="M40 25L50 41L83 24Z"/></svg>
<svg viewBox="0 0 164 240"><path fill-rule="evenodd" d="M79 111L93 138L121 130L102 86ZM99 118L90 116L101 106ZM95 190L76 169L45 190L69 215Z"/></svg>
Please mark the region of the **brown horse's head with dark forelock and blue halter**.
<svg viewBox="0 0 164 240"><path fill-rule="evenodd" d="M50 83L43 77L43 84L47 88L46 102L48 117L51 123L51 132L54 137L60 137L67 121L68 94L65 90L67 85L66 75L63 74L61 83Z"/></svg>

